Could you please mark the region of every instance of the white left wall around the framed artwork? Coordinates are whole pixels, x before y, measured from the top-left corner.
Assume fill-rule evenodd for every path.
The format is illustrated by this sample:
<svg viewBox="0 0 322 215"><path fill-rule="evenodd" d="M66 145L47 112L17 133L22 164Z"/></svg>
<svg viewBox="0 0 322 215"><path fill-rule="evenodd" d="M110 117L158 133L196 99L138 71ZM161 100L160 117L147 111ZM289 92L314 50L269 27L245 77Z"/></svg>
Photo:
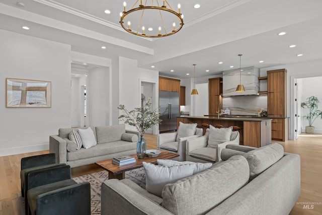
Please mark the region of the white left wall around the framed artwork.
<svg viewBox="0 0 322 215"><path fill-rule="evenodd" d="M70 127L70 46L0 30L0 156L49 149ZM6 108L6 78L51 81L51 108Z"/></svg>

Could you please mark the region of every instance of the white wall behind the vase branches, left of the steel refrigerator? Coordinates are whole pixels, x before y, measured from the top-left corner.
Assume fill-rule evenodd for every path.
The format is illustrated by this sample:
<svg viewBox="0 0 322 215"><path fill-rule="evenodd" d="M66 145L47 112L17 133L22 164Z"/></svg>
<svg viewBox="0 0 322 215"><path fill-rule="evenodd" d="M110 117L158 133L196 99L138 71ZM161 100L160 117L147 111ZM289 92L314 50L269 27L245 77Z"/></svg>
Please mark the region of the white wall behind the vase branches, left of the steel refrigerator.
<svg viewBox="0 0 322 215"><path fill-rule="evenodd" d="M119 104L125 105L126 109L132 110L141 106L140 82L155 83L153 105L158 106L158 71L138 68L136 60L119 57L119 80ZM134 129L129 125L126 128ZM155 132L158 133L158 128L154 129L153 133Z"/></svg>

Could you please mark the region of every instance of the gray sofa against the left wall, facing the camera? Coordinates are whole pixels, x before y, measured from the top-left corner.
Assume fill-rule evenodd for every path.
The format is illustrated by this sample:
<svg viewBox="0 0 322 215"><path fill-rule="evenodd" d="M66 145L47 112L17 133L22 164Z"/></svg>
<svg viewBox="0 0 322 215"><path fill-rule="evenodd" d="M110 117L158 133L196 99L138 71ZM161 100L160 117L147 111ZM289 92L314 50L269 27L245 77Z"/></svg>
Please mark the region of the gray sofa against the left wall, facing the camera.
<svg viewBox="0 0 322 215"><path fill-rule="evenodd" d="M76 128L60 128L57 135L49 136L49 152L56 154L56 163L70 167L93 164L114 157L136 154L138 133L125 129L125 124L91 127L97 145L76 150L69 133Z"/></svg>

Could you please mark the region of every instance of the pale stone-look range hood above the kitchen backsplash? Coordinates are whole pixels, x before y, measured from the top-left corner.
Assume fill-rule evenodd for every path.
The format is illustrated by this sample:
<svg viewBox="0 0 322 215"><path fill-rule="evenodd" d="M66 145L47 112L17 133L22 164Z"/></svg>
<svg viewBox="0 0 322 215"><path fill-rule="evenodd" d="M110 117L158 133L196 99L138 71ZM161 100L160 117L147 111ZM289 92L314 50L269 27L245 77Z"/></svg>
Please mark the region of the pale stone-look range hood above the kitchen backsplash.
<svg viewBox="0 0 322 215"><path fill-rule="evenodd" d="M259 75L260 69L254 66L241 68L241 84L244 85L245 92L235 92L237 85L239 85L239 68L223 71L223 96L257 95L260 90Z"/></svg>

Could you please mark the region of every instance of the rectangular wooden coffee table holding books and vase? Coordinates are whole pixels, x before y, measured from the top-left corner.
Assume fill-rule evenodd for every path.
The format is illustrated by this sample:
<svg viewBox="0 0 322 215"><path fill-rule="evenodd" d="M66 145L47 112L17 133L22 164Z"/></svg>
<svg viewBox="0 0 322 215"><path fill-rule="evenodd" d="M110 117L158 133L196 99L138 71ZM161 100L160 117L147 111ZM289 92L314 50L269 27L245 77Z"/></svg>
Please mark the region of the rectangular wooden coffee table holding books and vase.
<svg viewBox="0 0 322 215"><path fill-rule="evenodd" d="M142 164L143 162L156 164L157 159L173 159L173 158L179 157L178 154L162 151L162 150L160 155L155 158L149 158L146 156L143 159L138 159L136 155L131 155L131 156L135 158L135 163L118 166L116 164L112 164L113 159L109 159L105 161L96 162L95 164L99 165L100 167L102 167L103 169L109 172L109 179L116 178L121 180L125 178L126 171L143 167L143 164Z"/></svg>

